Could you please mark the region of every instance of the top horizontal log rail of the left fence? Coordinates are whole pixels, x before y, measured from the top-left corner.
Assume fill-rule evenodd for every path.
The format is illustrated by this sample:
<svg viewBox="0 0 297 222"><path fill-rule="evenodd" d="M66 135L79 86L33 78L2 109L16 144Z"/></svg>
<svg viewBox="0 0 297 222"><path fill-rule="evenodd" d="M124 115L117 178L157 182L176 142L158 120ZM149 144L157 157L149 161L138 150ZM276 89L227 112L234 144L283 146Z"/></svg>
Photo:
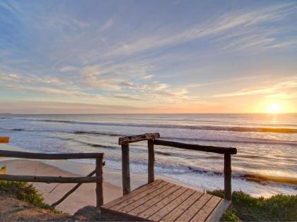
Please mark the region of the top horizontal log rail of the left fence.
<svg viewBox="0 0 297 222"><path fill-rule="evenodd" d="M30 152L0 150L0 156L22 159L96 159L104 158L103 153L39 154Z"/></svg>

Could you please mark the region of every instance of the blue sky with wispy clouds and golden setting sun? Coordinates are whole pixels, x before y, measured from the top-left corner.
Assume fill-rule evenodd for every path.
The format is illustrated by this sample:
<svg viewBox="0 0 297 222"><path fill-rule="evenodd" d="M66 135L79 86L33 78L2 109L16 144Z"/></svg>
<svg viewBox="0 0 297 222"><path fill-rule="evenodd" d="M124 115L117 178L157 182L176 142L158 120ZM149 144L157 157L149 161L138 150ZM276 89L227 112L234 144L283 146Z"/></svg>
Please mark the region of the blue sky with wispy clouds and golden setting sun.
<svg viewBox="0 0 297 222"><path fill-rule="evenodd" d="M0 113L297 112L297 1L0 1Z"/></svg>

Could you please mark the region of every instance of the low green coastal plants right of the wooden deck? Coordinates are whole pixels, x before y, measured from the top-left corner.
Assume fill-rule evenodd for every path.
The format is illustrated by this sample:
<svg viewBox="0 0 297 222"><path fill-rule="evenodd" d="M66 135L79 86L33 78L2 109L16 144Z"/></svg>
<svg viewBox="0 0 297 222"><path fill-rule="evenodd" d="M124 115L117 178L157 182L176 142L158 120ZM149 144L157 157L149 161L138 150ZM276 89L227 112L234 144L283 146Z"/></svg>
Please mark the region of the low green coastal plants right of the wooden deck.
<svg viewBox="0 0 297 222"><path fill-rule="evenodd" d="M223 197L222 190L208 192ZM297 221L297 195L251 197L245 192L232 193L233 204L221 221Z"/></svg>

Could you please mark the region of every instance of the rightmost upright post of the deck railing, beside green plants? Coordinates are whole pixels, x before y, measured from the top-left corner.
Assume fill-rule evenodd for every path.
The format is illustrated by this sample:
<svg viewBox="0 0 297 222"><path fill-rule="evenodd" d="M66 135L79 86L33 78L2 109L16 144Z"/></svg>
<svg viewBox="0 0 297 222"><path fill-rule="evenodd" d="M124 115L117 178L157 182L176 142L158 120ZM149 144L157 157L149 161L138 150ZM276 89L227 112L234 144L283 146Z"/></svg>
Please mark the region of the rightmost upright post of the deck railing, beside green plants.
<svg viewBox="0 0 297 222"><path fill-rule="evenodd" d="M225 199L232 200L232 190L231 190L231 154L224 154L224 190Z"/></svg>

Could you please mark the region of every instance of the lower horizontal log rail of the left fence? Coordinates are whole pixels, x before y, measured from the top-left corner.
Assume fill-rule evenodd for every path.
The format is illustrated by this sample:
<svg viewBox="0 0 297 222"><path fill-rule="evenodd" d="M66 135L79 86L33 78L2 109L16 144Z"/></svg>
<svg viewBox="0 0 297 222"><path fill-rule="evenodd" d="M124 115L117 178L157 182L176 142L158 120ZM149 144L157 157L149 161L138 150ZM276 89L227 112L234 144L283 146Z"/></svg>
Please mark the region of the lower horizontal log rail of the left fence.
<svg viewBox="0 0 297 222"><path fill-rule="evenodd" d="M36 183L96 183L101 177L62 177L37 175L0 175L0 180L36 182Z"/></svg>

